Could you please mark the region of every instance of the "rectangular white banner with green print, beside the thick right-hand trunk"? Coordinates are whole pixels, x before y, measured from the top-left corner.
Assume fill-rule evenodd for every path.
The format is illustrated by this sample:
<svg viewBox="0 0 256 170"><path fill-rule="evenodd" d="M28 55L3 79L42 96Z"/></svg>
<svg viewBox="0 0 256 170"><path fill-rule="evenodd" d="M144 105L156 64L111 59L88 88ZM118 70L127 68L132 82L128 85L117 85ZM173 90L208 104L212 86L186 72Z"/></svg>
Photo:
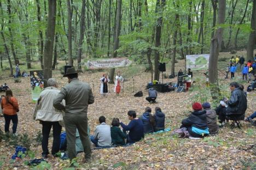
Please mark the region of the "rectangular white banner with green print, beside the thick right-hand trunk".
<svg viewBox="0 0 256 170"><path fill-rule="evenodd" d="M186 67L191 70L208 70L210 54L186 56Z"/></svg>

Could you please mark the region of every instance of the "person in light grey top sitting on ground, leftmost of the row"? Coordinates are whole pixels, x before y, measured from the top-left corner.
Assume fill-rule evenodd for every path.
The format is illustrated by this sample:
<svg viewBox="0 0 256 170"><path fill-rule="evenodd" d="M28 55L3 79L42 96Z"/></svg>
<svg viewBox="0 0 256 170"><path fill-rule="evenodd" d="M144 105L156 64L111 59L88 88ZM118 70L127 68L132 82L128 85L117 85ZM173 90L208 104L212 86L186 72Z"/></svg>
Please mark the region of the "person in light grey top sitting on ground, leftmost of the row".
<svg viewBox="0 0 256 170"><path fill-rule="evenodd" d="M91 135L91 142L96 147L109 147L111 145L110 126L106 124L106 118L101 116L98 118L100 125L96 126L94 136Z"/></svg>

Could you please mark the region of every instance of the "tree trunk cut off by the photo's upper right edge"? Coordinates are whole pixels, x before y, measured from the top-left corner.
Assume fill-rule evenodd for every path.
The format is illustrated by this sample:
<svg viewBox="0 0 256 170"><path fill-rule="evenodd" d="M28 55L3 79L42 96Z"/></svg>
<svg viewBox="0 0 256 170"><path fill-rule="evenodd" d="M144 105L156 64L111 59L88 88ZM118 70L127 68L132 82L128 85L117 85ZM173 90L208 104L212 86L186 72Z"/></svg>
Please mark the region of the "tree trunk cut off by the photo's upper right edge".
<svg viewBox="0 0 256 170"><path fill-rule="evenodd" d="M247 46L247 60L253 61L253 50L256 44L256 0L253 0L251 29L252 29L252 32L249 35L248 46Z"/></svg>

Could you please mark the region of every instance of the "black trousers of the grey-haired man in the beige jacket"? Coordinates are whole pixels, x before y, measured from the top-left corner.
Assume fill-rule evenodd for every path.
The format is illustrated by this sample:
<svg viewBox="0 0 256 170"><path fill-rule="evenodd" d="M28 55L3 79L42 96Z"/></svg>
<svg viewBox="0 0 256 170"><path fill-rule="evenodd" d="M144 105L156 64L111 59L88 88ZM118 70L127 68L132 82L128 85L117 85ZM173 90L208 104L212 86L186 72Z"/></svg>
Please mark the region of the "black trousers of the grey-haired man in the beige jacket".
<svg viewBox="0 0 256 170"><path fill-rule="evenodd" d="M42 121L42 134L43 134L43 139L42 139L42 149L43 153L45 155L49 154L48 150L48 139L51 131L51 126L53 126L53 147L51 148L51 154L54 155L56 154L59 149L60 149L60 133L62 126L59 124L59 122L46 122Z"/></svg>

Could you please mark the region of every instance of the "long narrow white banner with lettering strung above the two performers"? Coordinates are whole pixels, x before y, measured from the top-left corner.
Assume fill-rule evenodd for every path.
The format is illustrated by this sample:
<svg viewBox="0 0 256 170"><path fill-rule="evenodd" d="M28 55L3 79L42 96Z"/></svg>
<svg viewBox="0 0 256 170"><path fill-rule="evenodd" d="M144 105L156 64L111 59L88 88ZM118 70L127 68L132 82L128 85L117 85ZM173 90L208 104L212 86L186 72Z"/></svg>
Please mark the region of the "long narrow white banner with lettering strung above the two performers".
<svg viewBox="0 0 256 170"><path fill-rule="evenodd" d="M87 68L89 70L94 69L106 69L106 68L119 68L124 66L129 66L131 60L128 58L108 58L99 60L88 60Z"/></svg>

